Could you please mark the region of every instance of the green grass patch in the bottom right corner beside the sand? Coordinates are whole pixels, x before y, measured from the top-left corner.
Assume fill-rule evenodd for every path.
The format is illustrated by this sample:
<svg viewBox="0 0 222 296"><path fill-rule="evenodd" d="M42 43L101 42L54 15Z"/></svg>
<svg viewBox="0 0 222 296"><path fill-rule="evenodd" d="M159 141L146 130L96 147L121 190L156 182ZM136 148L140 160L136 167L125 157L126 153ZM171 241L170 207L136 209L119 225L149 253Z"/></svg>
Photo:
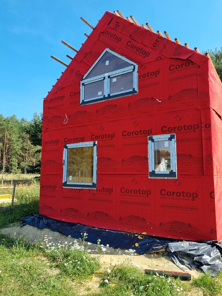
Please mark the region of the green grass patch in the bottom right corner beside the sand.
<svg viewBox="0 0 222 296"><path fill-rule="evenodd" d="M210 274L201 274L198 278L193 278L193 285L202 289L205 295L221 295L222 271L217 275L217 277L212 277Z"/></svg>

